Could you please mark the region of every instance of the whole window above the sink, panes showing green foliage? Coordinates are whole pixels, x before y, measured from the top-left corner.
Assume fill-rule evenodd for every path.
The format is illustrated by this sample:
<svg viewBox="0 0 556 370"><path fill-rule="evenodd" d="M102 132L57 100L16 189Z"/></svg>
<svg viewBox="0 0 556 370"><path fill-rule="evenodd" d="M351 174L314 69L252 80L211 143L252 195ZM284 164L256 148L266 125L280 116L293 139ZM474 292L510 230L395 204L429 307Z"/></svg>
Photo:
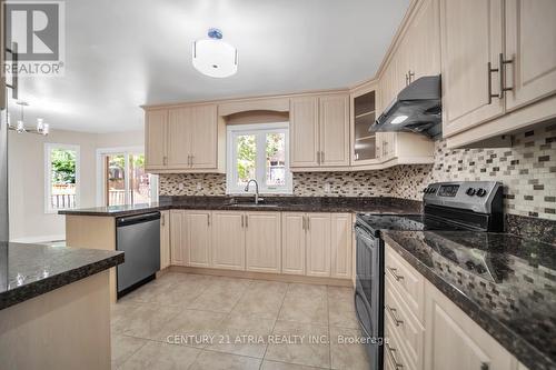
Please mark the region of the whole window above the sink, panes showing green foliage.
<svg viewBox="0 0 556 370"><path fill-rule="evenodd" d="M228 128L228 193L245 193L257 180L260 193L290 193L288 124L265 123ZM255 191L251 186L250 192Z"/></svg>

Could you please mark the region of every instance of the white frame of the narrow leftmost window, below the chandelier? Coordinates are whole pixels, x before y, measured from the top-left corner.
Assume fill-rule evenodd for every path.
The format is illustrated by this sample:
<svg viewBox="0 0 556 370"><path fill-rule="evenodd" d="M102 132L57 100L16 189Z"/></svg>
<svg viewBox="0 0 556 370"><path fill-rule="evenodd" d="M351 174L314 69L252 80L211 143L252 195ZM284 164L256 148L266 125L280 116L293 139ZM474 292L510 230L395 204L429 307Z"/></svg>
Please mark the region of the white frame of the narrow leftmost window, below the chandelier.
<svg viewBox="0 0 556 370"><path fill-rule="evenodd" d="M44 143L44 213L56 214L60 209L51 207L52 197L52 163L50 161L50 152L52 149L72 150L76 152L76 207L81 203L81 147L67 143Z"/></svg>

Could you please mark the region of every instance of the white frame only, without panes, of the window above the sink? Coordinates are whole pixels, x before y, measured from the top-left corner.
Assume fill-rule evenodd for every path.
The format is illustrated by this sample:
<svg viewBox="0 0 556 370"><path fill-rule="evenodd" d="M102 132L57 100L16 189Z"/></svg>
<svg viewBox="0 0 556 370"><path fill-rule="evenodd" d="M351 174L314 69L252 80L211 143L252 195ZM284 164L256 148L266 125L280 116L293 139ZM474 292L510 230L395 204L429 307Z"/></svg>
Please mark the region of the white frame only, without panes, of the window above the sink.
<svg viewBox="0 0 556 370"><path fill-rule="evenodd" d="M280 132L285 134L285 167L286 167L286 184L284 187L267 187L264 182L266 177L266 158L259 153L259 148L266 148L266 136L259 134L256 138L257 144L257 167L256 180L259 183L259 192L261 194L291 194L294 192L294 181L289 169L289 122L276 123L255 123L255 124L229 124L227 127L227 166L226 166L226 193L227 194L246 194L244 187L238 187L237 179L237 146L236 138L244 134L258 134L267 132ZM251 186L252 187L252 186ZM250 188L251 193L254 188Z"/></svg>

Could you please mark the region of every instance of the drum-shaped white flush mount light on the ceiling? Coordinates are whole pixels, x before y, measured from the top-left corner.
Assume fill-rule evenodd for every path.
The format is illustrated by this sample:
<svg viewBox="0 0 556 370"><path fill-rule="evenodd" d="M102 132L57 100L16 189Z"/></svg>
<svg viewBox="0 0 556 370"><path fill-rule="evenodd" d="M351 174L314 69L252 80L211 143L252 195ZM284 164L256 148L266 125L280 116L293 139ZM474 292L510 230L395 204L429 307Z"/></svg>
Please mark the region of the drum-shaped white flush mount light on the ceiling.
<svg viewBox="0 0 556 370"><path fill-rule="evenodd" d="M193 67L202 74L225 78L238 71L238 51L222 41L222 31L208 30L209 39L193 42Z"/></svg>

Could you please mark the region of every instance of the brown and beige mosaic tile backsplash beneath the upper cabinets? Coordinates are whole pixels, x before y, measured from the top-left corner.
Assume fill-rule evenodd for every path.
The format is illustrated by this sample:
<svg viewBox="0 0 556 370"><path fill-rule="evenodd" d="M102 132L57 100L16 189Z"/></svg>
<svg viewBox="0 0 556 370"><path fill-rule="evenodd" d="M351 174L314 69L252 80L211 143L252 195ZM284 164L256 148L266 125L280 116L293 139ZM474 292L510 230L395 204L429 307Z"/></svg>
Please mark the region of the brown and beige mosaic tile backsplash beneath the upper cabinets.
<svg viewBox="0 0 556 370"><path fill-rule="evenodd" d="M440 140L435 150L434 164L294 173L294 196L420 200L421 190L430 182L498 180L504 183L506 212L556 220L556 124L517 134L512 148L450 150ZM159 183L161 196L226 193L225 174L161 174Z"/></svg>

